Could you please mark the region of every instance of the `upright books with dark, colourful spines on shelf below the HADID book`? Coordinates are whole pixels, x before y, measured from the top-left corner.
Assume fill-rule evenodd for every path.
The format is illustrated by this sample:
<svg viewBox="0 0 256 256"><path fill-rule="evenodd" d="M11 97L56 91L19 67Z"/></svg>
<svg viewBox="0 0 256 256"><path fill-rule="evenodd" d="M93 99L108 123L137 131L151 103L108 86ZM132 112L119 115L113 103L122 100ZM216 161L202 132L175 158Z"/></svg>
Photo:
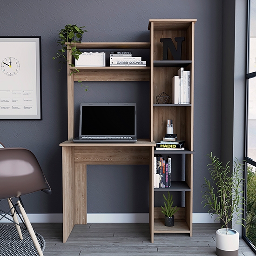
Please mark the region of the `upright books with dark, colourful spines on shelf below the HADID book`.
<svg viewBox="0 0 256 256"><path fill-rule="evenodd" d="M169 155L166 158L161 154L154 155L154 188L171 187L171 162Z"/></svg>

